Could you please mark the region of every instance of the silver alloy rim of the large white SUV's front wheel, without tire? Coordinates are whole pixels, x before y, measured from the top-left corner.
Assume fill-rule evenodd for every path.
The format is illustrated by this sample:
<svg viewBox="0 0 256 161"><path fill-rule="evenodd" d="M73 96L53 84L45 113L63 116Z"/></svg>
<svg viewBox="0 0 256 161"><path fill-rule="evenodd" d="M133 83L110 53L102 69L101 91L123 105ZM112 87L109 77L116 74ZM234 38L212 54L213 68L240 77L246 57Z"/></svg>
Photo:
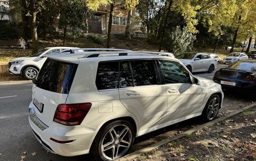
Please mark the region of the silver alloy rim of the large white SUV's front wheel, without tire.
<svg viewBox="0 0 256 161"><path fill-rule="evenodd" d="M215 118L219 108L220 108L220 99L218 99L217 97L212 98L211 102L207 107L207 112L206 112L207 118L209 120L212 120L213 118Z"/></svg>

